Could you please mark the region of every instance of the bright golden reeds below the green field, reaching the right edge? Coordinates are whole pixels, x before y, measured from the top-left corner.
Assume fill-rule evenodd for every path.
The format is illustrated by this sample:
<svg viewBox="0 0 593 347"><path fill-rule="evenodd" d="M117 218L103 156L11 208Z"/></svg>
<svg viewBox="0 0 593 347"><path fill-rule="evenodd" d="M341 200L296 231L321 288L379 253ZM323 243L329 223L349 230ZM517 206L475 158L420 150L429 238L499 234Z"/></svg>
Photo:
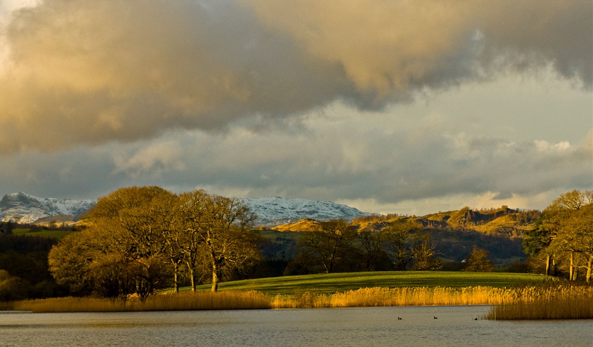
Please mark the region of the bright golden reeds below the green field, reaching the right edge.
<svg viewBox="0 0 593 347"><path fill-rule="evenodd" d="M276 295L271 299L273 309L451 305L492 305L483 319L593 318L593 287L377 287L336 294Z"/></svg>

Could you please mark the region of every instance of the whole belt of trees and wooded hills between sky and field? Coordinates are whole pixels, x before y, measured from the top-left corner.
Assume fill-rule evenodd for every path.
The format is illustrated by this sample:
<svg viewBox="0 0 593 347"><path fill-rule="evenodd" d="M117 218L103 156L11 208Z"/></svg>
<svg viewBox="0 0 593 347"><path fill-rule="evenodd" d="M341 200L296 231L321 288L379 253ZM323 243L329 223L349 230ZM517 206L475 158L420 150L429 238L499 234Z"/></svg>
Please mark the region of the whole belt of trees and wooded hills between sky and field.
<svg viewBox="0 0 593 347"><path fill-rule="evenodd" d="M0 300L146 298L161 288L209 283L216 291L219 281L323 272L591 279L592 191L561 194L543 211L464 207L422 217L305 219L273 229L256 229L256 219L240 200L203 190L129 187L100 198L74 229L1 223ZM57 233L68 236L47 237Z"/></svg>

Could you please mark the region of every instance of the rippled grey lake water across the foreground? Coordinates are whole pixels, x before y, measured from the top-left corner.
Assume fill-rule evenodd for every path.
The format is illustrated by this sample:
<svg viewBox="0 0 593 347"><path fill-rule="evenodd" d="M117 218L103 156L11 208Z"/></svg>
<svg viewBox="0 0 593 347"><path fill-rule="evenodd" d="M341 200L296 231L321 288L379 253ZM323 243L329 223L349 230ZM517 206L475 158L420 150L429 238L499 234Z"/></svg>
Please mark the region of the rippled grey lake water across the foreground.
<svg viewBox="0 0 593 347"><path fill-rule="evenodd" d="M593 346L593 320L474 320L487 310L488 306L425 306L125 313L2 312L0 345Z"/></svg>

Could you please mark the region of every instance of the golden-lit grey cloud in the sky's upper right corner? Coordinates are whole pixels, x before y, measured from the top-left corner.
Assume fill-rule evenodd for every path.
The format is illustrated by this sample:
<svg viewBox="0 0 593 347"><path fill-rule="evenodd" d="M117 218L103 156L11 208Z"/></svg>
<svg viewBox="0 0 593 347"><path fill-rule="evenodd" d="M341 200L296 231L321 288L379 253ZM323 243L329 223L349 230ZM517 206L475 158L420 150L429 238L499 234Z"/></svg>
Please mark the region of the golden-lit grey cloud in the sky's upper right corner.
<svg viewBox="0 0 593 347"><path fill-rule="evenodd" d="M590 4L504 1L250 2L307 52L339 62L359 89L394 95L554 62L592 83Z"/></svg>

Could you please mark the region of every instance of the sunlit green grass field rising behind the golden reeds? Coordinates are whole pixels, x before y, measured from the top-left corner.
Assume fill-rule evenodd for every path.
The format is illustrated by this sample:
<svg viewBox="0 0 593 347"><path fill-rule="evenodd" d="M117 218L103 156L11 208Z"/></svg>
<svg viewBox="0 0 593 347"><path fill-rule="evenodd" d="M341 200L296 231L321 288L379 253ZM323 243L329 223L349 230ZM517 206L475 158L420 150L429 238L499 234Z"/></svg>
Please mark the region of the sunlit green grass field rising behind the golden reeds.
<svg viewBox="0 0 593 347"><path fill-rule="evenodd" d="M511 274L505 272L447 272L447 271L386 271L346 272L340 274L315 274L301 276L246 279L222 282L219 290L256 290L269 295L291 295L311 292L333 294L359 288L403 287L513 287L532 284L546 279L543 275ZM197 290L208 290L211 285L200 285ZM190 287L180 288L191 290Z"/></svg>

